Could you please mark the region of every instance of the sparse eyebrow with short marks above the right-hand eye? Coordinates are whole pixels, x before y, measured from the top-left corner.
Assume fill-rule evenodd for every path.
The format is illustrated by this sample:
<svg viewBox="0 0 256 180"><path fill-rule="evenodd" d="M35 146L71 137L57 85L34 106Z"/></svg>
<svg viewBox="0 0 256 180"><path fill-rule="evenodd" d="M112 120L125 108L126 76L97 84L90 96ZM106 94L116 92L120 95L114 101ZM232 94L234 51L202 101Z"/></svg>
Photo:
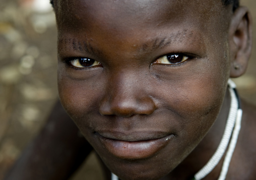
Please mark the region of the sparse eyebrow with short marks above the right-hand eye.
<svg viewBox="0 0 256 180"><path fill-rule="evenodd" d="M188 33L187 30L183 30L182 32L179 31L177 33L170 34L167 37L161 37L161 38L157 37L155 39L152 39L150 42L144 43L139 48L139 51L140 52L151 51L154 49L161 49L175 42L181 43L182 41L184 41L184 39L186 39L187 34L188 36L191 36L193 35L193 32Z"/></svg>

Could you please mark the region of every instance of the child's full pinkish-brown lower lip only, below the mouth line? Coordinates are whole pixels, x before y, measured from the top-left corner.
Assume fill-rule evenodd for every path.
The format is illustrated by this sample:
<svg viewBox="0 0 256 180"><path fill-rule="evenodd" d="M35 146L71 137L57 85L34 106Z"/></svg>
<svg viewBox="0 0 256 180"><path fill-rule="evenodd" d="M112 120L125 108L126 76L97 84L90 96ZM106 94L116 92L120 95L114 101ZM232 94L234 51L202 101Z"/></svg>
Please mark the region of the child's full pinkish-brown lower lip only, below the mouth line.
<svg viewBox="0 0 256 180"><path fill-rule="evenodd" d="M159 139L143 141L123 141L109 139L103 136L99 137L103 146L114 156L122 159L143 159L160 151L174 135L171 134Z"/></svg>

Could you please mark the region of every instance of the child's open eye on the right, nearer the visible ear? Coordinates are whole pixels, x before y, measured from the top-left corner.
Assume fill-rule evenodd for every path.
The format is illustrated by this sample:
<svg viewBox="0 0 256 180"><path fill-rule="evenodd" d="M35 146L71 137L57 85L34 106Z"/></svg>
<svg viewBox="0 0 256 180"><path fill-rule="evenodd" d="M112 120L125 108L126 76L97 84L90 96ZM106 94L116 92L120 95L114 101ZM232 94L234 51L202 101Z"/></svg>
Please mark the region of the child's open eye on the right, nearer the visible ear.
<svg viewBox="0 0 256 180"><path fill-rule="evenodd" d="M179 63L186 61L187 59L188 59L188 57L184 56L182 54L171 54L171 55L165 55L165 56L158 58L154 63L157 63L157 64L179 64Z"/></svg>

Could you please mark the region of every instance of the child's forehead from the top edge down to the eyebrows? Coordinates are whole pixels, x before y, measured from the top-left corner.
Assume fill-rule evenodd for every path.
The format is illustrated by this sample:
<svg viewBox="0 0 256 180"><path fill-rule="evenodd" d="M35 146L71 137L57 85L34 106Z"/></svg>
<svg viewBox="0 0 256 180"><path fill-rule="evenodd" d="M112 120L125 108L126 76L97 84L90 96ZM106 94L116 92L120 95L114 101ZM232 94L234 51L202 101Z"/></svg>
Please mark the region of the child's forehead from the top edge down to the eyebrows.
<svg viewBox="0 0 256 180"><path fill-rule="evenodd" d="M107 39L112 44L120 42L119 50L121 42L137 49L136 43L142 41L161 45L165 36L176 43L202 42L202 36L214 40L227 28L226 16L220 0L66 0L59 1L56 9L61 42L76 38L102 44Z"/></svg>

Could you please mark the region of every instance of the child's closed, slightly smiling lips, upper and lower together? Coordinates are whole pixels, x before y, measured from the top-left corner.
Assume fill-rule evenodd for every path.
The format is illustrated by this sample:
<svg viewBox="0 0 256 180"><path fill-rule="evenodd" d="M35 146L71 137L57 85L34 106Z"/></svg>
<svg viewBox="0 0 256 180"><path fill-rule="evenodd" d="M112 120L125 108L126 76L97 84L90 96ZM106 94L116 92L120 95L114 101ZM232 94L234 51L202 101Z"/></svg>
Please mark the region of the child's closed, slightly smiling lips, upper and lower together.
<svg viewBox="0 0 256 180"><path fill-rule="evenodd" d="M100 142L114 156L121 159L144 159L153 156L174 137L166 133L135 132L97 133ZM117 136L119 134L120 136ZM136 136L138 134L139 136Z"/></svg>

